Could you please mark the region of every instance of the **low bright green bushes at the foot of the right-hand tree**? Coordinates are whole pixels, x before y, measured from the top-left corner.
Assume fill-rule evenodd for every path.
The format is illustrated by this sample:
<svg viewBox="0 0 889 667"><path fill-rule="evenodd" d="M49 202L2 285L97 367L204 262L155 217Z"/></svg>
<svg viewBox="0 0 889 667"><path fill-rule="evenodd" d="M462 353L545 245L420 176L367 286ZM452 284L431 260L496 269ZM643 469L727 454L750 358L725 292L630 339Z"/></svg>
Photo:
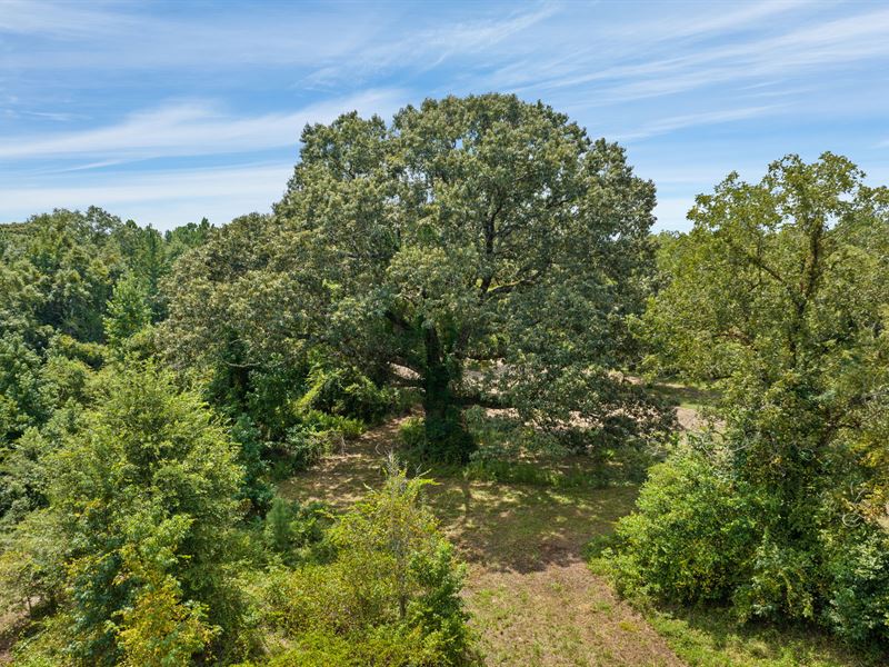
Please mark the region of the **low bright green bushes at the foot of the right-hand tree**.
<svg viewBox="0 0 889 667"><path fill-rule="evenodd" d="M727 469L691 447L652 468L637 511L598 545L619 590L730 603L741 620L816 621L859 647L889 644L885 528L822 507L807 531L778 532L787 508Z"/></svg>

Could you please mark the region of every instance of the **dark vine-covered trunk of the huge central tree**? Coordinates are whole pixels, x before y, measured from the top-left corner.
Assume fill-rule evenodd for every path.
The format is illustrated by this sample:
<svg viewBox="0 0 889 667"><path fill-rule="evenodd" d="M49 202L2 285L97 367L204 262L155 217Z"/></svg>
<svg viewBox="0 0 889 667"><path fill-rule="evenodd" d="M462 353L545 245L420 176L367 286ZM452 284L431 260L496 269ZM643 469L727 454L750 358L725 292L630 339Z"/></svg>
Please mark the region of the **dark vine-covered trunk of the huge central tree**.
<svg viewBox="0 0 889 667"><path fill-rule="evenodd" d="M465 464L475 444L463 428L460 405L451 390L453 374L444 361L441 341L433 327L426 330L424 342L423 409L429 454L437 460Z"/></svg>

